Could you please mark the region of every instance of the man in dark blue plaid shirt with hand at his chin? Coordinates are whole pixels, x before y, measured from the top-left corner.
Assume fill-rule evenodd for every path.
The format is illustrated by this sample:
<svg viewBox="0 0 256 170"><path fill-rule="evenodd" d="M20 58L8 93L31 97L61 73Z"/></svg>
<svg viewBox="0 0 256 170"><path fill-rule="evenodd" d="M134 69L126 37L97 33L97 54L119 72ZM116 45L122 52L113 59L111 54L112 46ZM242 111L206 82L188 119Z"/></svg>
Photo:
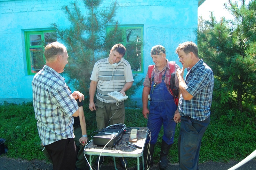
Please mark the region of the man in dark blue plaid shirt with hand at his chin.
<svg viewBox="0 0 256 170"><path fill-rule="evenodd" d="M198 58L195 43L185 42L176 49L182 69L177 69L180 86L178 111L174 121L181 122L178 139L180 169L197 170L202 137L210 123L214 77L212 69ZM184 70L188 73L184 80Z"/></svg>

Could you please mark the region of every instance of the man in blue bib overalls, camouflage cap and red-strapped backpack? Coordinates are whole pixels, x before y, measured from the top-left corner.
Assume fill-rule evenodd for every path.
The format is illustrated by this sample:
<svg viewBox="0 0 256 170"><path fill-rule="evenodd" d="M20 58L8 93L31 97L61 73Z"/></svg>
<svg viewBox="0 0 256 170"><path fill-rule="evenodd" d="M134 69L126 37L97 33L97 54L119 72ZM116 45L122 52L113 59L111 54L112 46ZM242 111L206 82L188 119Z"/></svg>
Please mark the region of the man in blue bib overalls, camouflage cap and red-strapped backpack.
<svg viewBox="0 0 256 170"><path fill-rule="evenodd" d="M145 149L143 151L145 169L153 165L153 152L159 131L164 126L164 135L160 151L159 169L166 169L168 165L167 155L173 143L175 125L173 120L177 105L170 92L170 65L166 59L165 48L162 45L152 47L151 57L155 66L151 76L146 75L142 92L143 116L148 119L148 129L151 132L151 139L148 135ZM175 72L180 68L175 62ZM171 69L172 70L172 69ZM149 79L151 77L151 79ZM178 79L175 79L176 87L179 87ZM180 94L180 93L179 93ZM148 100L150 101L148 110ZM149 153L148 153L149 151ZM142 169L142 166L141 166Z"/></svg>

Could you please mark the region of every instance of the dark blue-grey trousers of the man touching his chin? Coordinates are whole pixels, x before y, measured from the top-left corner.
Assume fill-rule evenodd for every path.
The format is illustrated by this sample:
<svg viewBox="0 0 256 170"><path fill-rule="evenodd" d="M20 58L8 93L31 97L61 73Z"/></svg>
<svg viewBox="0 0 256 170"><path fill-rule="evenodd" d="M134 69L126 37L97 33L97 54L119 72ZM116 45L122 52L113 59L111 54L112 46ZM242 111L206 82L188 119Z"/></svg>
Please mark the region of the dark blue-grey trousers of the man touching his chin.
<svg viewBox="0 0 256 170"><path fill-rule="evenodd" d="M198 169L202 137L210 123L210 116L204 121L184 116L180 120L180 135L178 139L180 169L196 170Z"/></svg>

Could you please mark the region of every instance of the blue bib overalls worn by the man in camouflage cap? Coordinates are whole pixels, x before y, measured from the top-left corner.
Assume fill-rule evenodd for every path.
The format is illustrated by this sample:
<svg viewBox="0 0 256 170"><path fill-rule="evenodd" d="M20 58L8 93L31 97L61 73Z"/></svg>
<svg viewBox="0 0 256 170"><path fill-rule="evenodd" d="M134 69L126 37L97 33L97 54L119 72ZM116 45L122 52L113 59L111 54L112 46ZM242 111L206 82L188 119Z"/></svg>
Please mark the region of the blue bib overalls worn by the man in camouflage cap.
<svg viewBox="0 0 256 170"><path fill-rule="evenodd" d="M167 68L165 70L165 73ZM164 82L165 73L162 76L162 82L155 85L154 75L150 89L150 105L148 114L148 129L151 132L150 144L156 144L159 131L164 125L163 140L168 145L173 143L176 123L173 120L174 112L177 110L177 105L174 102L173 96L168 91ZM149 136L146 143L149 143Z"/></svg>

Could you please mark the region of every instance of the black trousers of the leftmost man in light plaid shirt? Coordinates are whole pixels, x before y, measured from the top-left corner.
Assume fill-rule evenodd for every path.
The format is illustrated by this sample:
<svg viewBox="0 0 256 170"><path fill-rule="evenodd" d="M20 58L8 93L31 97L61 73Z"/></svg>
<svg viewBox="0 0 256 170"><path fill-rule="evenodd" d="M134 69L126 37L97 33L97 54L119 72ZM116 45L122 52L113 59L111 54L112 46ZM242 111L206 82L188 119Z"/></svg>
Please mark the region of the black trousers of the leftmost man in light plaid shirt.
<svg viewBox="0 0 256 170"><path fill-rule="evenodd" d="M76 168L76 145L73 138L62 139L44 147L52 158L53 170Z"/></svg>

